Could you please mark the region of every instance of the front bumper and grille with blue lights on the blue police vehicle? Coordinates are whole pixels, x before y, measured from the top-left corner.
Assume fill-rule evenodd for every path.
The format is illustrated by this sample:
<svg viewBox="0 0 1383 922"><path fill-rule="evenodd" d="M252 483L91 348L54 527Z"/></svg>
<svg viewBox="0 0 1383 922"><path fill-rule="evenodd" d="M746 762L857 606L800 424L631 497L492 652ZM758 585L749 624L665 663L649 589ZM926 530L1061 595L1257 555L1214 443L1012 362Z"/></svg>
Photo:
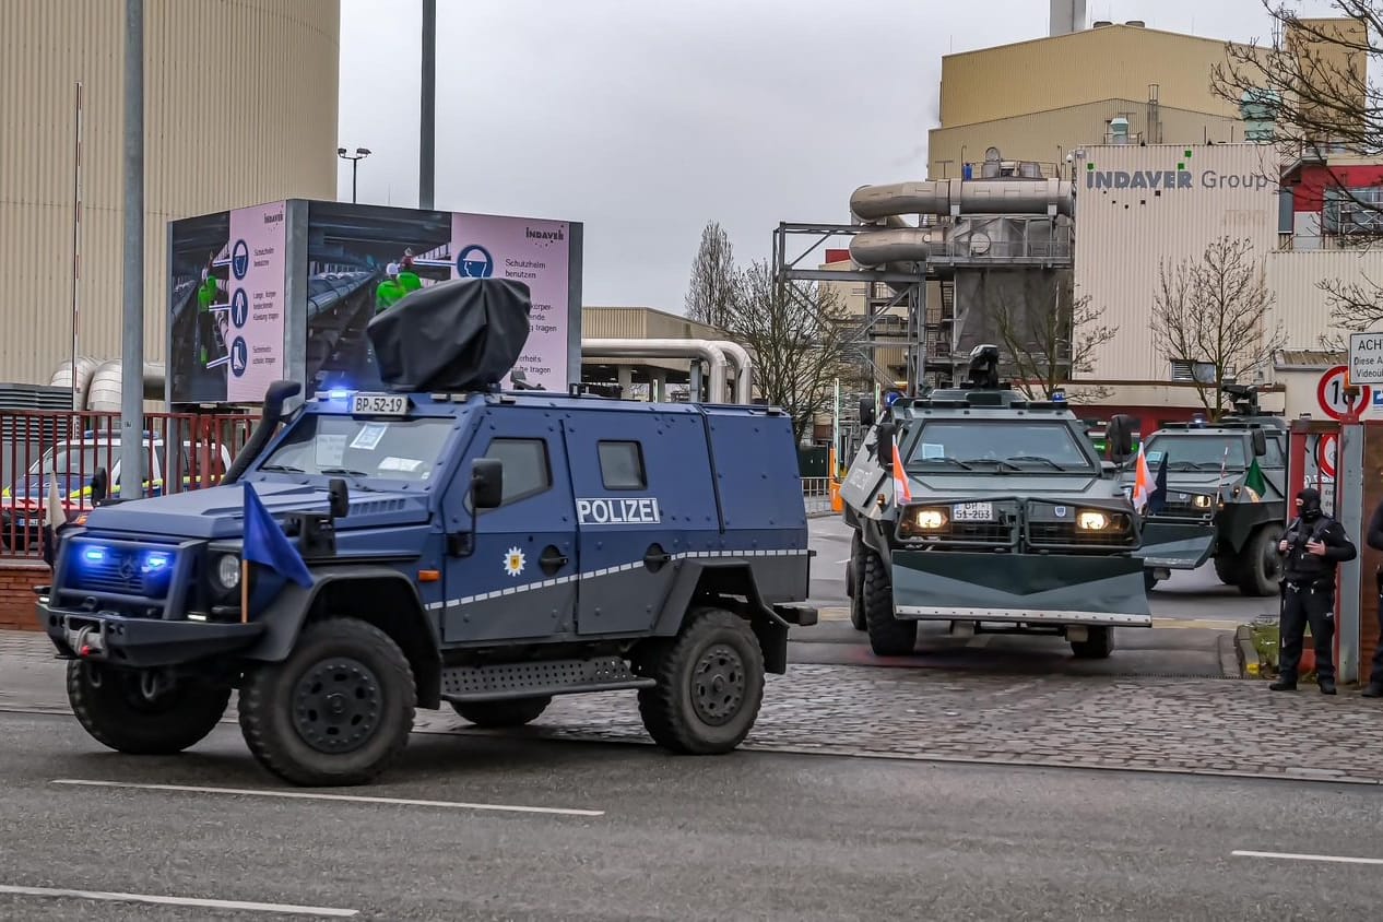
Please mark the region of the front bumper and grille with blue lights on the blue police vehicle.
<svg viewBox="0 0 1383 922"><path fill-rule="evenodd" d="M252 646L260 623L189 621L205 542L65 539L36 615L62 658L129 668L188 664Z"/></svg>

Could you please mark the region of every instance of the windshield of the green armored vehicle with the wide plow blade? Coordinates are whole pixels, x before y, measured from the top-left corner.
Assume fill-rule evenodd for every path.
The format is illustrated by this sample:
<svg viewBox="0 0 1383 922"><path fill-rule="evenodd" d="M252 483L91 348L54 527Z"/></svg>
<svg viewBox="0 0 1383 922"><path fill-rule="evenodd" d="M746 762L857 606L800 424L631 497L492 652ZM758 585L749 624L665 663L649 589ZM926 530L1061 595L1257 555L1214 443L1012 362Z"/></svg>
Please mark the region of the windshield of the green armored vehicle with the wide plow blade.
<svg viewBox="0 0 1383 922"><path fill-rule="evenodd" d="M1088 473L1094 464L1070 427L1037 420L935 420L922 427L907 467Z"/></svg>

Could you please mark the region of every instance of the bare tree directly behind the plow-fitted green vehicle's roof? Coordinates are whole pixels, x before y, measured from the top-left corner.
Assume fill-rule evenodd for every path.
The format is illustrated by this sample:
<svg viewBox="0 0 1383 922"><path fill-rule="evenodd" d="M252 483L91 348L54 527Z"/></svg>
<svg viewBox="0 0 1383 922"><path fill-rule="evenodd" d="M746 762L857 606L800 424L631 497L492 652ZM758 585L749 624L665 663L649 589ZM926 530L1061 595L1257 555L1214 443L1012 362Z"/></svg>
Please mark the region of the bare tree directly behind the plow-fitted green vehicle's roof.
<svg viewBox="0 0 1383 922"><path fill-rule="evenodd" d="M1000 289L993 303L994 329L1008 359L1015 386L1029 399L1046 399L1077 375L1094 370L1095 350L1111 341L1117 326L1104 322L1105 308L1090 296L1075 297L1069 278L1025 274L1021 297ZM1102 399L1098 384L1072 390L1068 399Z"/></svg>

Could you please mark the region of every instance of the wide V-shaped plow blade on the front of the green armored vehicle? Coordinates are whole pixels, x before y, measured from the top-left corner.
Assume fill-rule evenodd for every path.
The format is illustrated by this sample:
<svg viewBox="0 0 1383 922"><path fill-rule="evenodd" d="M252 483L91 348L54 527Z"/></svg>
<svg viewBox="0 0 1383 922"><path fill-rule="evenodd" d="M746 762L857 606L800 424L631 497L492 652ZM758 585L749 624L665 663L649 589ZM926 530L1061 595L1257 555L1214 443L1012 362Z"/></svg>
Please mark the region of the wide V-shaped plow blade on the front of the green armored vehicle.
<svg viewBox="0 0 1383 922"><path fill-rule="evenodd" d="M895 550L893 612L904 621L1151 628L1142 568L1131 556Z"/></svg>

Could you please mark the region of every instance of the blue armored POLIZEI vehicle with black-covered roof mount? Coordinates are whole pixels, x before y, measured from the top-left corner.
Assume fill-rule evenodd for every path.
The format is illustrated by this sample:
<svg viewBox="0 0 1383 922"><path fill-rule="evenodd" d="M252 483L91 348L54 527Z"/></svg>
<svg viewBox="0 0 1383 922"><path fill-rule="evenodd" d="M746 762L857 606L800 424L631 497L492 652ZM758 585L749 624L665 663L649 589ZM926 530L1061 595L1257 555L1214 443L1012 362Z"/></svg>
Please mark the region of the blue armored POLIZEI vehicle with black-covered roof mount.
<svg viewBox="0 0 1383 922"><path fill-rule="evenodd" d="M790 419L502 391L528 311L506 279L415 292L368 326L379 393L285 413L279 382L220 487L66 532L39 619L83 727L173 753L238 690L270 771L364 784L415 708L509 727L636 688L660 745L734 749L816 621Z"/></svg>

